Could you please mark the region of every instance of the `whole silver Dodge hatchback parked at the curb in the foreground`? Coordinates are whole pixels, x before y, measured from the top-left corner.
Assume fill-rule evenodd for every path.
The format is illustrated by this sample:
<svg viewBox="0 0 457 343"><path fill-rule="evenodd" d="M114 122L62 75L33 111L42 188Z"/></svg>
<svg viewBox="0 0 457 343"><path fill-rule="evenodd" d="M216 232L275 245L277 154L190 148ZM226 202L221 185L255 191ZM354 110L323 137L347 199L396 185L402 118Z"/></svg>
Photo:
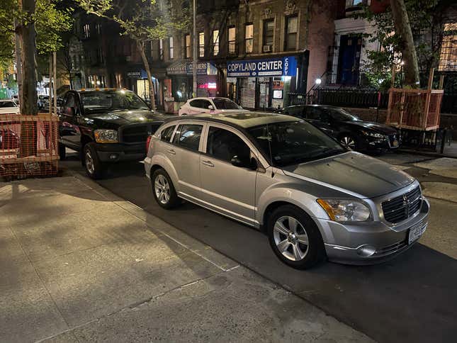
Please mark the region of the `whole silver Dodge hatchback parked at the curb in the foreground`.
<svg viewBox="0 0 457 343"><path fill-rule="evenodd" d="M145 171L163 208L182 198L264 230L297 269L326 257L384 261L428 223L429 202L412 176L290 116L173 118L149 137Z"/></svg>

